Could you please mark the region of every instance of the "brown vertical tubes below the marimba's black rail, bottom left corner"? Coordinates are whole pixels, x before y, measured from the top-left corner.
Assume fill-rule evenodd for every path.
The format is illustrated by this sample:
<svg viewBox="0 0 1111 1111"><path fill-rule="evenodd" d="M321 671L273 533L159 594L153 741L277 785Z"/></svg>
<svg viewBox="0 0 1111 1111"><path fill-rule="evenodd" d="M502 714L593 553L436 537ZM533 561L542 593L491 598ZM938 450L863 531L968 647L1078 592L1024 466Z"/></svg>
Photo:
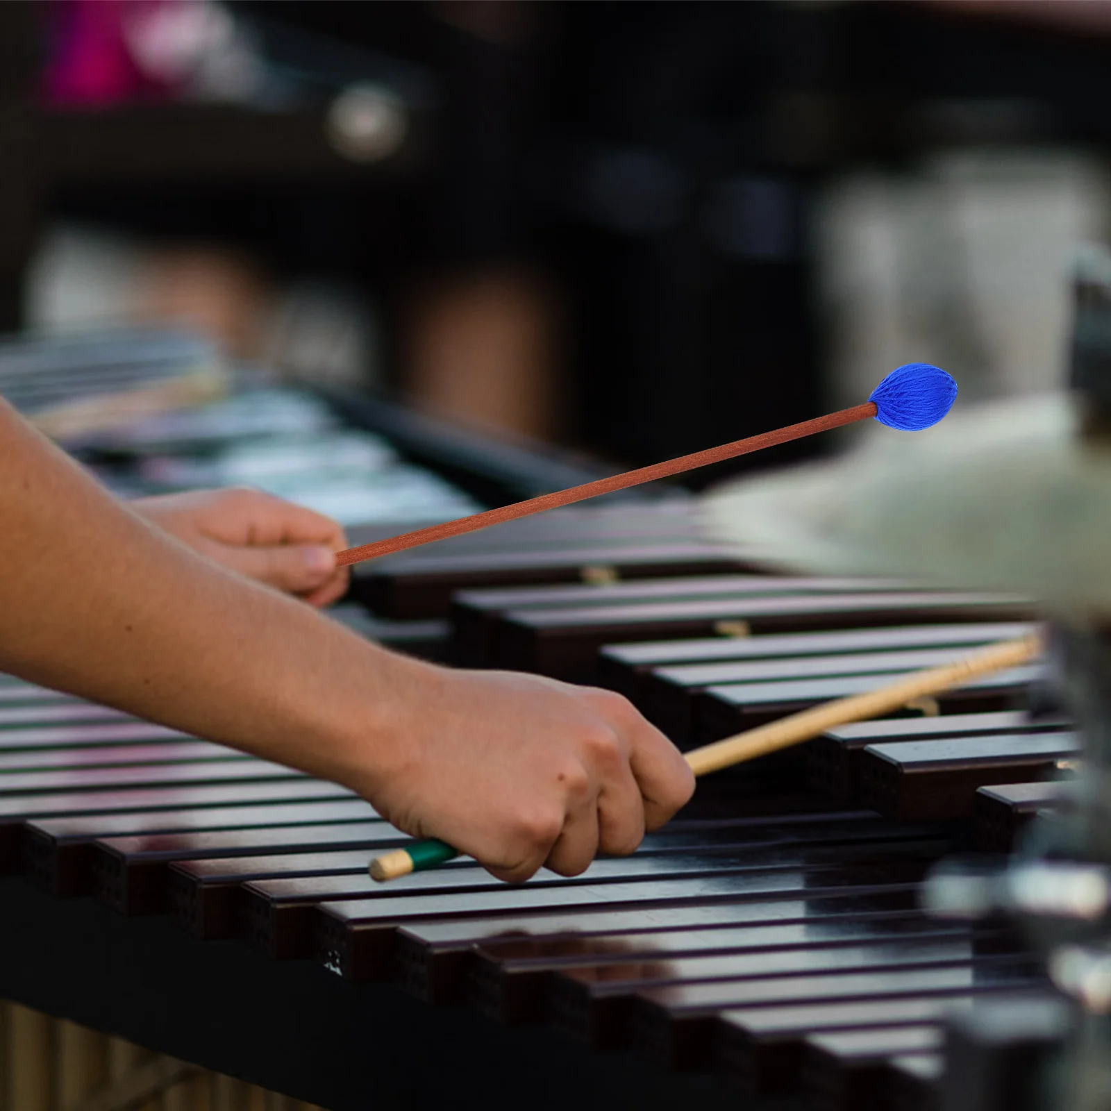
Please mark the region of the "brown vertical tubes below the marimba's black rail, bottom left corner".
<svg viewBox="0 0 1111 1111"><path fill-rule="evenodd" d="M3 1111L321 1111L19 1003L0 1002Z"/></svg>

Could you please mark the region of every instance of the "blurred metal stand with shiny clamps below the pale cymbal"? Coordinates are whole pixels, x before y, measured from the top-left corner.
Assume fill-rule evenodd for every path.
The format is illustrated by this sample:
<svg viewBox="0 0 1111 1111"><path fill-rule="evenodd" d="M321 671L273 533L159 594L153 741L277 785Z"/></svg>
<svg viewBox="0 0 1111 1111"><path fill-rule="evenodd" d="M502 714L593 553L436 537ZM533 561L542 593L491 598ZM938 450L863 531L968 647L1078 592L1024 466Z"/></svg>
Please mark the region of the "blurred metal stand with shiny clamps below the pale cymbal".
<svg viewBox="0 0 1111 1111"><path fill-rule="evenodd" d="M1051 651L1084 744L1072 805L1039 817L1005 868L943 864L927 894L947 917L1017 919L1060 998L951 1021L941 1111L1111 1108L1111 632L1059 623Z"/></svg>

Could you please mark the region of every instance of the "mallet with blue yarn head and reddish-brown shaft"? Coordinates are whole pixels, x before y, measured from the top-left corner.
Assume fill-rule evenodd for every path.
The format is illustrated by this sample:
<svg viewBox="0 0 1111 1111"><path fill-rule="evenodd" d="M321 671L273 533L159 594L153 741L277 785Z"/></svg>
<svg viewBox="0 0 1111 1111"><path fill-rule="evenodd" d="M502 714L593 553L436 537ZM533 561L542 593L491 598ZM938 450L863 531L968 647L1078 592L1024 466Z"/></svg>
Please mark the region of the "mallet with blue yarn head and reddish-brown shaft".
<svg viewBox="0 0 1111 1111"><path fill-rule="evenodd" d="M419 548L433 540L459 537L464 532L476 532L479 529L488 529L491 524L503 524L506 521L516 521L549 509L571 506L577 501L598 498L603 493L628 490L642 482L671 478L683 471L708 467L710 463L720 463L722 460L747 456L752 451L772 448L790 440L800 440L805 436L813 436L815 432L825 432L831 428L841 428L858 420L867 420L869 417L874 417L881 424L887 424L890 428L917 432L931 424L937 424L952 408L955 398L957 382L943 370L925 362L909 362L891 371L872 390L871 397L862 406L841 409L835 413L802 421L801 424L788 424L787 428L777 429L774 432L750 436L745 440L734 440L732 443L723 443L718 448L707 448L704 451L680 456L678 459L669 459L662 463L652 463L650 467L640 467L622 474L611 474L605 479L584 482L582 486L570 487L567 490L557 490L553 493L541 494L539 498L529 498L528 501L519 501L512 506L501 506L498 509L488 509L482 513L461 517L454 521L431 524L424 529L406 532L400 537L390 537L371 544L348 548L337 553L336 565L347 567L351 563L361 563L363 560L391 556L409 548Z"/></svg>

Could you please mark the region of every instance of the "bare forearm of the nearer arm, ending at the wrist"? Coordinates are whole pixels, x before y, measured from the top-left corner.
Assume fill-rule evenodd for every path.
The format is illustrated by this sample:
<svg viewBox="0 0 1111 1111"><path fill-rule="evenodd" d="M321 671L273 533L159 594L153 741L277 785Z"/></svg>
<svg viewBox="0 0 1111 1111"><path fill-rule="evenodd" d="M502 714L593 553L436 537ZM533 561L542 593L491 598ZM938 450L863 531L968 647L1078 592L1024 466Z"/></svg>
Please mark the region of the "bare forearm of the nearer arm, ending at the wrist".
<svg viewBox="0 0 1111 1111"><path fill-rule="evenodd" d="M194 554L6 406L0 522L0 668L363 791L397 758L414 664Z"/></svg>

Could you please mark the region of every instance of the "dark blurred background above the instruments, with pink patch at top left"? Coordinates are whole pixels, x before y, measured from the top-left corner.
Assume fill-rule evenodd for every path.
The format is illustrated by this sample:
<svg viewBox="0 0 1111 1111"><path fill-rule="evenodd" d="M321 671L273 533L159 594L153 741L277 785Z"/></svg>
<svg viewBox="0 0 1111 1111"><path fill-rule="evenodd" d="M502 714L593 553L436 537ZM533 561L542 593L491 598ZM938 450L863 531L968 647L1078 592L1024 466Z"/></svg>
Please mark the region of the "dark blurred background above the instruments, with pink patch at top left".
<svg viewBox="0 0 1111 1111"><path fill-rule="evenodd" d="M8 0L0 329L184 326L607 466L913 360L1052 388L1109 96L1101 0Z"/></svg>

